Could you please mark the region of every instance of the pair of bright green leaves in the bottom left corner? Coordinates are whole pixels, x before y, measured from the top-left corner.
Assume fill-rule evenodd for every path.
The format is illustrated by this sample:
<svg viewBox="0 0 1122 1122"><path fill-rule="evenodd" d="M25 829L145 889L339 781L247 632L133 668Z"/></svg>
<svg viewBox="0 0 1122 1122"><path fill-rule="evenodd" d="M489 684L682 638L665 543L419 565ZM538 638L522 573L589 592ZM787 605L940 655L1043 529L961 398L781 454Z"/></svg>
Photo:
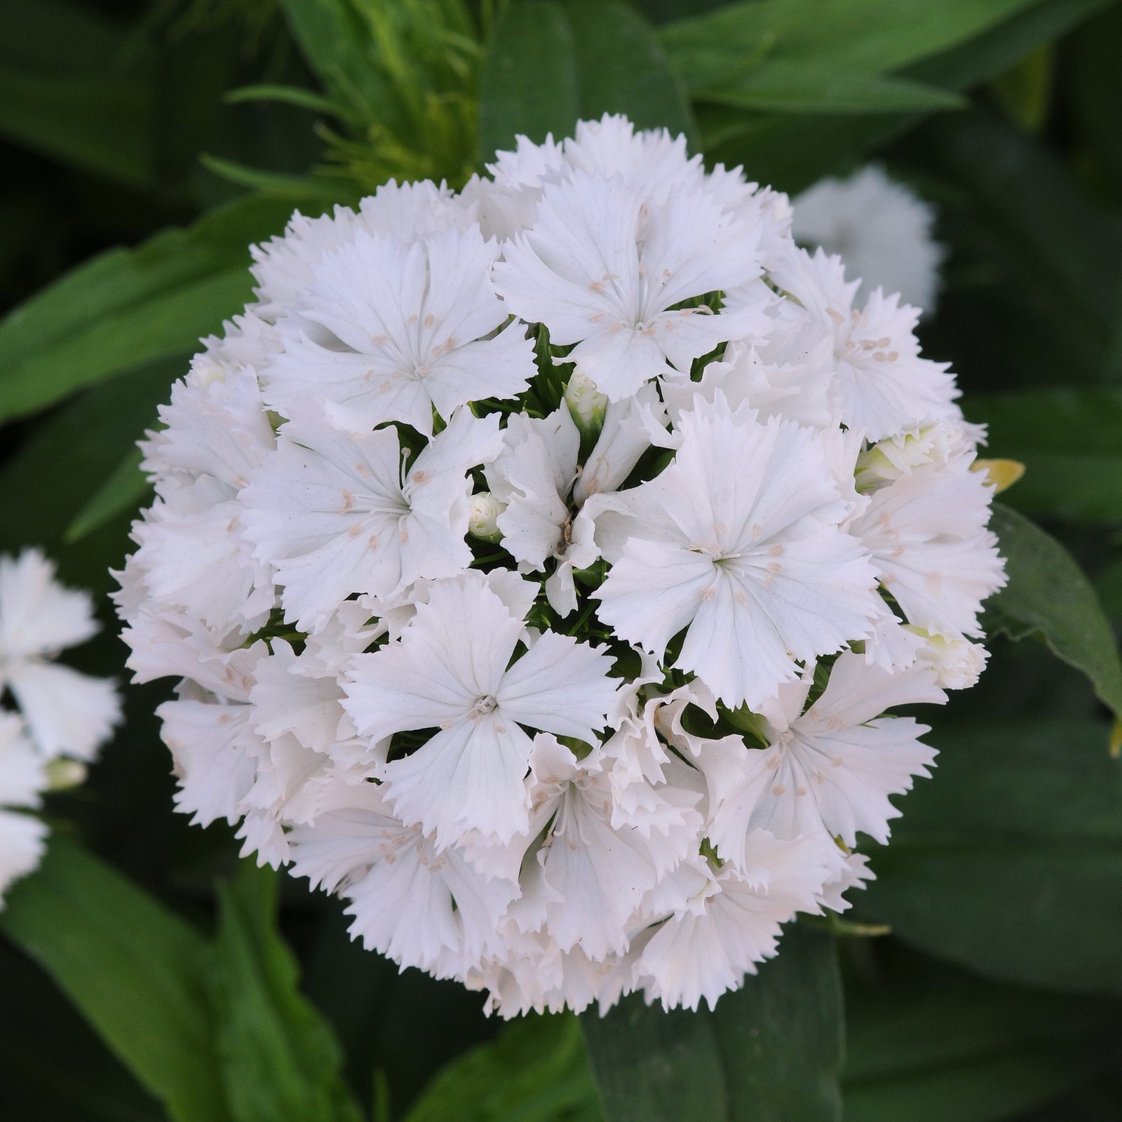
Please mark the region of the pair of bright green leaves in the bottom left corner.
<svg viewBox="0 0 1122 1122"><path fill-rule="evenodd" d="M0 912L176 1122L361 1122L330 1028L297 988L276 879L242 863L212 944L55 836Z"/></svg>

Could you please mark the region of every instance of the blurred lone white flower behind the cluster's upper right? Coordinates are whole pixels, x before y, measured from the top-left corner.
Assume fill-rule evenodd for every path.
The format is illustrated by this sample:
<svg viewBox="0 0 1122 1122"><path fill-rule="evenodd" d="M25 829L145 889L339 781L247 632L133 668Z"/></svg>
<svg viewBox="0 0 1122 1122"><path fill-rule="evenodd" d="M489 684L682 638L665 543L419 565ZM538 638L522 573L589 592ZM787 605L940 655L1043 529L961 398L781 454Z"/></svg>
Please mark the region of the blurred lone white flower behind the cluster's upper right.
<svg viewBox="0 0 1122 1122"><path fill-rule="evenodd" d="M794 200L794 240L838 254L865 291L883 288L930 313L945 251L935 208L870 164L848 180L821 180Z"/></svg>

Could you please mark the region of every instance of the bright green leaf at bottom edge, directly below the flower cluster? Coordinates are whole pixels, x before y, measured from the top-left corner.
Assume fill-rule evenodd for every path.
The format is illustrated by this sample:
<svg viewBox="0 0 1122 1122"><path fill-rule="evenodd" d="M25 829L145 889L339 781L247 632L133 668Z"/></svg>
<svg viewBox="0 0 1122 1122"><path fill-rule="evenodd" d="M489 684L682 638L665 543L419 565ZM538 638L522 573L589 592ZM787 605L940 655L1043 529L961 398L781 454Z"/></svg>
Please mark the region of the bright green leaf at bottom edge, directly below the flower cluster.
<svg viewBox="0 0 1122 1122"><path fill-rule="evenodd" d="M425 1088L405 1122L603 1122L580 1024L571 1014L512 1021Z"/></svg>

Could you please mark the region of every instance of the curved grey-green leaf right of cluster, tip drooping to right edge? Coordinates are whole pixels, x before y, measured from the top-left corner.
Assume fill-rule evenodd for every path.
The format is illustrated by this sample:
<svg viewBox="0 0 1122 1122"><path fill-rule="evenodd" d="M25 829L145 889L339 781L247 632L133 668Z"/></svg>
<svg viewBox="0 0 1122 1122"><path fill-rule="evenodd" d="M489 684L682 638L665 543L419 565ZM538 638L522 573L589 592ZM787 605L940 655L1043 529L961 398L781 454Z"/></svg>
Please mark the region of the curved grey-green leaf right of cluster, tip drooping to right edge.
<svg viewBox="0 0 1122 1122"><path fill-rule="evenodd" d="M1009 583L987 601L987 634L1012 640L1039 635L1122 716L1122 661L1091 581L1055 537L1015 511L995 503L990 526L1005 558Z"/></svg>

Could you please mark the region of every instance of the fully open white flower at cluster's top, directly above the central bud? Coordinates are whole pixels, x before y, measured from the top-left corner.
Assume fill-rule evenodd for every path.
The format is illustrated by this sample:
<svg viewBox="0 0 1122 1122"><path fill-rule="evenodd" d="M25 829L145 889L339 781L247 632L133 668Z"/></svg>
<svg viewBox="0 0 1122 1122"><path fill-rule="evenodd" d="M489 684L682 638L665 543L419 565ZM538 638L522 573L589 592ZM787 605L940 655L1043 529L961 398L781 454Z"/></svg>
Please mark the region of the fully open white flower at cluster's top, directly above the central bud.
<svg viewBox="0 0 1122 1122"><path fill-rule="evenodd" d="M686 188L646 203L619 176L578 173L545 187L533 227L495 266L516 315L544 323L554 344L608 401L690 365L743 334L753 316L677 307L760 272L754 241L712 199Z"/></svg>

